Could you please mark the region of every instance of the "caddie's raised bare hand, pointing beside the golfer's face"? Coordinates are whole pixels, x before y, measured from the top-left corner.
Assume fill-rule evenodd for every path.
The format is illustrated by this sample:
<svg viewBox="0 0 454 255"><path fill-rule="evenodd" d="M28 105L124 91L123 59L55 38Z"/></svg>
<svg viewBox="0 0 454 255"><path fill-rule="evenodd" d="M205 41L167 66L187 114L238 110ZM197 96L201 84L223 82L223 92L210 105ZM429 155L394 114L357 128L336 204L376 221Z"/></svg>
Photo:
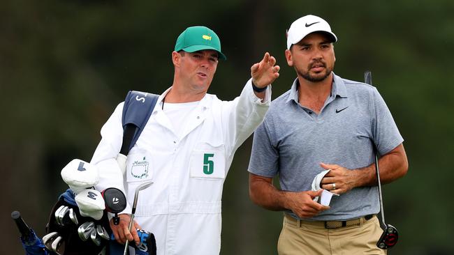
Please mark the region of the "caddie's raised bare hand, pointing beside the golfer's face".
<svg viewBox="0 0 454 255"><path fill-rule="evenodd" d="M263 59L259 63L251 66L252 82L257 88L265 88L279 77L279 65L276 64L276 59L266 52Z"/></svg>

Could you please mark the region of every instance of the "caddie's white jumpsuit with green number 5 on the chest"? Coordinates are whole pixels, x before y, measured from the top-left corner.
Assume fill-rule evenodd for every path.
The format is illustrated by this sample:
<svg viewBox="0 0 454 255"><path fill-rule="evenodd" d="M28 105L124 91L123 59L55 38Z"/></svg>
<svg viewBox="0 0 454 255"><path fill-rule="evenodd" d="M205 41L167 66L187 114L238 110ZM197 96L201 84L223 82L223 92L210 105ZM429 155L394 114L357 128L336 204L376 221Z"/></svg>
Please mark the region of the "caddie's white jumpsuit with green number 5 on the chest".
<svg viewBox="0 0 454 255"><path fill-rule="evenodd" d="M96 190L117 187L126 191L131 213L134 191L145 180L153 184L138 196L136 221L154 233L157 254L219 254L221 249L221 195L235 150L260 125L268 110L271 89L261 102L251 80L233 101L207 94L178 139L159 96L156 107L126 161L122 176L115 158L122 146L120 103L101 129L101 142L91 163L100 181Z"/></svg>

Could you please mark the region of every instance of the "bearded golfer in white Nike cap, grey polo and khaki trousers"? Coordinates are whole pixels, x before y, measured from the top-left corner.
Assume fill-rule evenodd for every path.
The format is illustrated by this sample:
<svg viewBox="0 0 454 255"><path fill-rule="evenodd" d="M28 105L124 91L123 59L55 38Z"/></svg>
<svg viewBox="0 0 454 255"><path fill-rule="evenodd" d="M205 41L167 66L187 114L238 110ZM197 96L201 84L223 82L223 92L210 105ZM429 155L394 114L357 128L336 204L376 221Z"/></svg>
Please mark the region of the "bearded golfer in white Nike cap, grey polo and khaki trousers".
<svg viewBox="0 0 454 255"><path fill-rule="evenodd" d="M284 211L281 255L385 254L376 247L383 231L374 147L382 183L407 173L402 136L379 92L332 72L334 42L321 17L291 24L285 55L297 77L254 133L249 192L259 206ZM319 184L340 195L329 207L313 200L322 190L312 190L328 169ZM277 175L281 190L272 184Z"/></svg>

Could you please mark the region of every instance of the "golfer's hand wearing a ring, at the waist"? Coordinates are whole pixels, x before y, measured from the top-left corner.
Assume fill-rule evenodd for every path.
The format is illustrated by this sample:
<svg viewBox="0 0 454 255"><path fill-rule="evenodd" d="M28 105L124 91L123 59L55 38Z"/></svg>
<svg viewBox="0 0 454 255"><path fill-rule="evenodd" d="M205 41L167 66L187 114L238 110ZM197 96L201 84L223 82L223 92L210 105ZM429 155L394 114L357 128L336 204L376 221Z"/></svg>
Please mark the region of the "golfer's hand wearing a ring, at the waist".
<svg viewBox="0 0 454 255"><path fill-rule="evenodd" d="M356 187L356 171L346 169L337 164L320 163L324 169L331 169L321 179L321 188L335 194L342 194Z"/></svg>

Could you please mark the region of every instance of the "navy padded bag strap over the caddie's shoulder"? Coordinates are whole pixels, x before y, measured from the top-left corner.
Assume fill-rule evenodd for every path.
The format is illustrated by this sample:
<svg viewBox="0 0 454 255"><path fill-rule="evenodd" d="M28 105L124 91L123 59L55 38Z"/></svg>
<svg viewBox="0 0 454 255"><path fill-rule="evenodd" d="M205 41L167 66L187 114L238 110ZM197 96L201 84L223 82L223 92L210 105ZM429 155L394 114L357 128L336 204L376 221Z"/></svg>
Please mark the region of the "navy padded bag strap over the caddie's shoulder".
<svg viewBox="0 0 454 255"><path fill-rule="evenodd" d="M123 155L128 155L129 150L136 144L158 98L159 95L140 91L129 91L126 95L122 114L123 142L120 149Z"/></svg>

